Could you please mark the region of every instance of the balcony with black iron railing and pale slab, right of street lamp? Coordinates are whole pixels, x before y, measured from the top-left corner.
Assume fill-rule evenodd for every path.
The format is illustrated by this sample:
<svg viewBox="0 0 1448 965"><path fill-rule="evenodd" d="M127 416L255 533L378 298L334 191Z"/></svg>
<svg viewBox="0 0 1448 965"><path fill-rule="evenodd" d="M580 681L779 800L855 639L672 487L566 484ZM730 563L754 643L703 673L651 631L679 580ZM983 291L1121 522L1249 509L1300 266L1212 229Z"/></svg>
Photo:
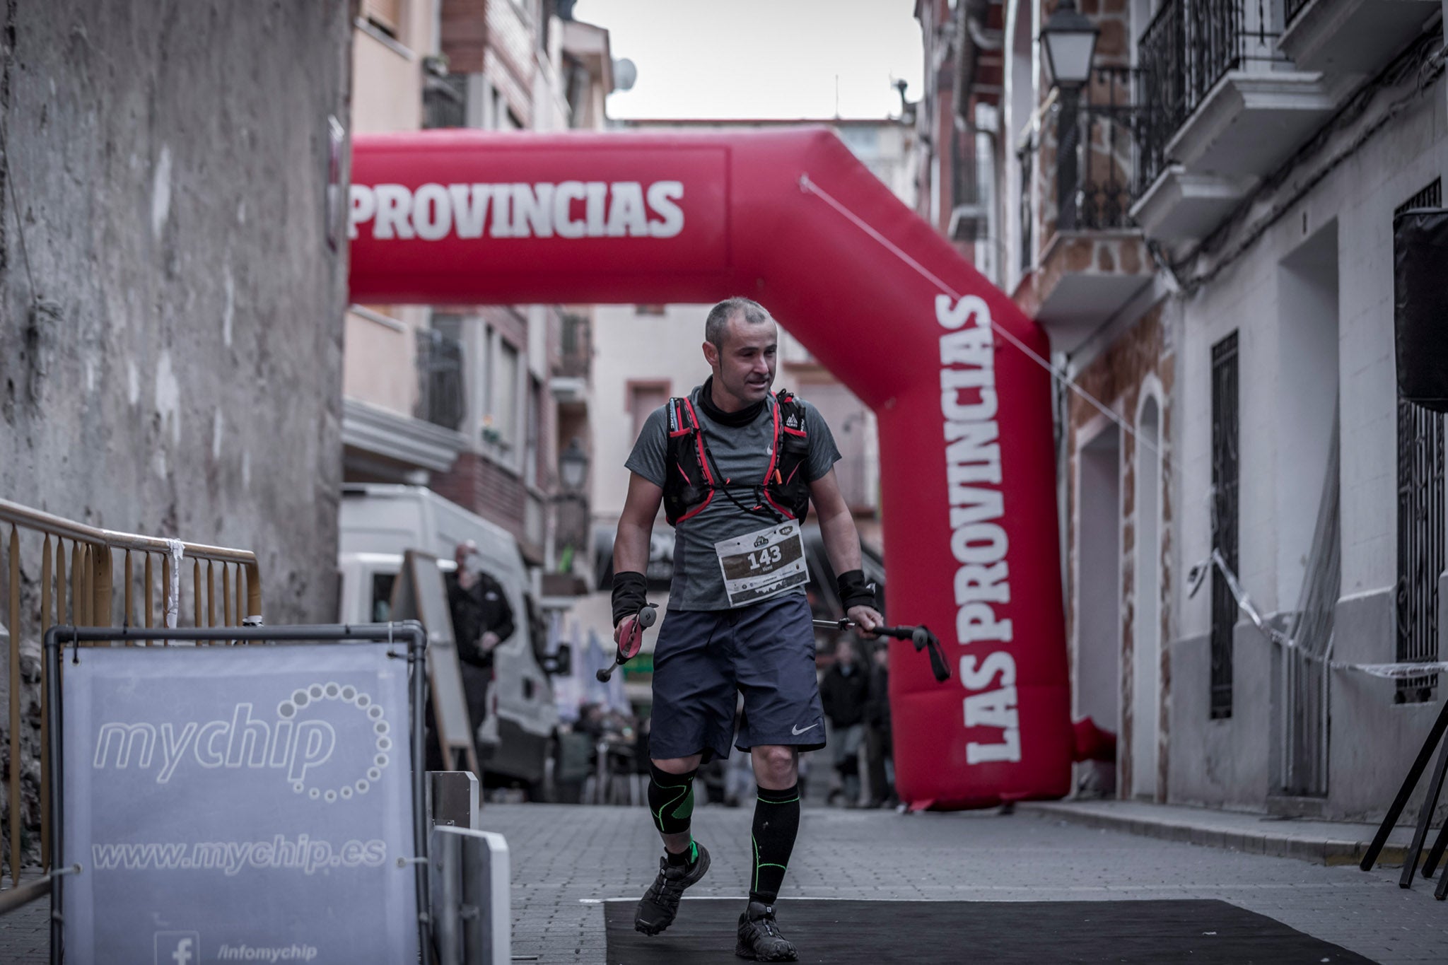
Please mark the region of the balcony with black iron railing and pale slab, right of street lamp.
<svg viewBox="0 0 1448 965"><path fill-rule="evenodd" d="M1131 214L1167 245L1200 240L1329 117L1344 77L1277 49L1280 0L1167 0L1138 43L1141 179Z"/></svg>

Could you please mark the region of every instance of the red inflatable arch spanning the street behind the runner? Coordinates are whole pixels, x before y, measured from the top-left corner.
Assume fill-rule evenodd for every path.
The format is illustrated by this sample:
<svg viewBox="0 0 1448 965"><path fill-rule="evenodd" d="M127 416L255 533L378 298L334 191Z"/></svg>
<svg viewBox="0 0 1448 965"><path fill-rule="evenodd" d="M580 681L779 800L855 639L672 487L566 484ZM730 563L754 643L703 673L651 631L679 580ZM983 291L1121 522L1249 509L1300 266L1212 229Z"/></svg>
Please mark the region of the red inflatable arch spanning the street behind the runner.
<svg viewBox="0 0 1448 965"><path fill-rule="evenodd" d="M1069 790L1047 340L834 133L359 136L350 234L358 302L763 302L877 414L889 615L951 663L892 644L901 797Z"/></svg>

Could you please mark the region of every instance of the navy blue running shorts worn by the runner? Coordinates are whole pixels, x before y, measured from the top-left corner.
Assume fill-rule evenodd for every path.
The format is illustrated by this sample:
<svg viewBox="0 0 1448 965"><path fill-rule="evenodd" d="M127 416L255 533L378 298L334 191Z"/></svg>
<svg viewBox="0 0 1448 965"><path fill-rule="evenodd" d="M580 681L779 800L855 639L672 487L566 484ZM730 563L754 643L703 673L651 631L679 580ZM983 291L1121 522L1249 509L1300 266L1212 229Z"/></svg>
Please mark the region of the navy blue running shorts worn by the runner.
<svg viewBox="0 0 1448 965"><path fill-rule="evenodd" d="M802 595L730 611L668 611L653 648L649 757L727 758L736 693L744 694L740 751L824 747L814 625Z"/></svg>

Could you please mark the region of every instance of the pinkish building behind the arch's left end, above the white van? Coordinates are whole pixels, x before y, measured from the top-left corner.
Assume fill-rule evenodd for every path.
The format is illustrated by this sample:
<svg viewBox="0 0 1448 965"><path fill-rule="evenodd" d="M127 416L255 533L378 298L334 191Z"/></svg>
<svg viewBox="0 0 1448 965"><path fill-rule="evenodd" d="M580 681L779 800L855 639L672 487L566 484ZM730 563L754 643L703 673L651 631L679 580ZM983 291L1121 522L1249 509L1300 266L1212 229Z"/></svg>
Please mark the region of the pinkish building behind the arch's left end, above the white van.
<svg viewBox="0 0 1448 965"><path fill-rule="evenodd" d="M608 32L559 16L566 7L366 0L356 129L602 129ZM546 580L575 560L586 567L586 496L565 493L557 467L569 447L591 449L591 314L586 305L353 305L348 480L430 485L513 532Z"/></svg>

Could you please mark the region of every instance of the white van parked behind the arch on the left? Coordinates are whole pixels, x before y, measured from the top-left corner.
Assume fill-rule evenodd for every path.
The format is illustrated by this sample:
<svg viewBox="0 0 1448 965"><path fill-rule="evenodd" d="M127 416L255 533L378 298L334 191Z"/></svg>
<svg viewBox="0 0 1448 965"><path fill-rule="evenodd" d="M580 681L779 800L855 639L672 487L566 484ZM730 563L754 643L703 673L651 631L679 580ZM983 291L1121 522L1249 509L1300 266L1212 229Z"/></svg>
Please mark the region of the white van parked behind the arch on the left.
<svg viewBox="0 0 1448 965"><path fill-rule="evenodd" d="M543 668L547 641L534 638L529 576L513 534L426 486L348 483L342 488L339 522L343 624L390 618L392 582L403 569L404 551L436 556L437 566L450 573L458 544L478 544L479 564L502 586L517 628L494 651L488 719L478 754L489 784L521 783L531 799L546 797L557 758L557 705Z"/></svg>

